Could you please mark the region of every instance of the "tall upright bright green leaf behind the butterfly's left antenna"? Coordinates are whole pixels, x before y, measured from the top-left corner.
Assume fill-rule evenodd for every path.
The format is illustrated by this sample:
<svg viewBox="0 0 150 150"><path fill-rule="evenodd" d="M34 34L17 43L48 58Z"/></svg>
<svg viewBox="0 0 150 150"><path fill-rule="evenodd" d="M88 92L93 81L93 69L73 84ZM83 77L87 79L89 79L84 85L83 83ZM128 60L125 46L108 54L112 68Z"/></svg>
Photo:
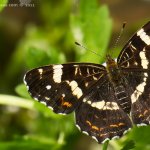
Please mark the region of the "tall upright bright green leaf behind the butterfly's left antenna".
<svg viewBox="0 0 150 150"><path fill-rule="evenodd" d="M106 5L99 6L97 0L86 1L86 5L85 0L81 0L79 14L80 16L71 16L71 29L75 41L86 44L88 49L102 57L82 48L77 50L77 59L99 63L106 54L112 28L108 8Z"/></svg>

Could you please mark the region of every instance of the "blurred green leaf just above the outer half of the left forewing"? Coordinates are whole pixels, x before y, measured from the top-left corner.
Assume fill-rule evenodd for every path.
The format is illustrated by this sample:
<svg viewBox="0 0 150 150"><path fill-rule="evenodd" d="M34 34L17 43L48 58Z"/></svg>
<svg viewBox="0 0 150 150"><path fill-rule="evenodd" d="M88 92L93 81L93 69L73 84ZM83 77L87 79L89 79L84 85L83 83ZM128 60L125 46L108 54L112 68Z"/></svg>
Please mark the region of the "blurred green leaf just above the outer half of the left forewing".
<svg viewBox="0 0 150 150"><path fill-rule="evenodd" d="M46 33L42 31L40 32L38 29L36 29L37 31L34 30L34 27L30 27L27 38L24 42L22 41L25 45L22 45L22 49L25 51L24 59L27 67L35 68L43 65L64 62L64 54L59 52L57 48L54 48L49 43L48 37L45 37L47 36Z"/></svg>

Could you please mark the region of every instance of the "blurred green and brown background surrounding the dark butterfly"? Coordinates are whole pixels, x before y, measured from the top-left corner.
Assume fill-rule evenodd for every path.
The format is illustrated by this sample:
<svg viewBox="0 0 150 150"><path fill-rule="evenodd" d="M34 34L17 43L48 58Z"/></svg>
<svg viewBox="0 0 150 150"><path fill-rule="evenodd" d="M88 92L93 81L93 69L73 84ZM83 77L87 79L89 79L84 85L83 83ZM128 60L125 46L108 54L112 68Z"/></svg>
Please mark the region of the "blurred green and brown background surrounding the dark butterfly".
<svg viewBox="0 0 150 150"><path fill-rule="evenodd" d="M102 63L108 50L117 57L149 19L150 0L1 0L0 150L100 150L101 145L78 131L73 114L56 115L35 102L23 76L47 64ZM135 127L108 149L150 150L149 133L150 127Z"/></svg>

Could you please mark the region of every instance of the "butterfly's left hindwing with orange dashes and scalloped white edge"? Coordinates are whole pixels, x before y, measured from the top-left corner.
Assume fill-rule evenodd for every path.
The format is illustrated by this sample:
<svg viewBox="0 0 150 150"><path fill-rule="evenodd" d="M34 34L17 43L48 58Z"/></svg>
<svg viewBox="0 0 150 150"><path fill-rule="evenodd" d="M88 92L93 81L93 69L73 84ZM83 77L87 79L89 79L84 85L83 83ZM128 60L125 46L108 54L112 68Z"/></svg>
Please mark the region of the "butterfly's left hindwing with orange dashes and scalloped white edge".
<svg viewBox="0 0 150 150"><path fill-rule="evenodd" d="M132 124L128 115L117 104L107 76L98 82L75 110L75 116L80 130L102 143L119 138Z"/></svg>

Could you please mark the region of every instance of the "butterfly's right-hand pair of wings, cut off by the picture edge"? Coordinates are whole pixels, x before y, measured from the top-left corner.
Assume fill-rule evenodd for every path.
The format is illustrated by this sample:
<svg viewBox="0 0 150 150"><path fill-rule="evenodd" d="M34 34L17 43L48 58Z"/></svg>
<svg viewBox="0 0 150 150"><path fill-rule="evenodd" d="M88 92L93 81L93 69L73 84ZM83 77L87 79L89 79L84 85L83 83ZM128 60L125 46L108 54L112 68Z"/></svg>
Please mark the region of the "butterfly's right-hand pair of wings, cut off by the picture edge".
<svg viewBox="0 0 150 150"><path fill-rule="evenodd" d="M124 46L118 65L128 82L131 116L138 125L150 123L150 22Z"/></svg>

